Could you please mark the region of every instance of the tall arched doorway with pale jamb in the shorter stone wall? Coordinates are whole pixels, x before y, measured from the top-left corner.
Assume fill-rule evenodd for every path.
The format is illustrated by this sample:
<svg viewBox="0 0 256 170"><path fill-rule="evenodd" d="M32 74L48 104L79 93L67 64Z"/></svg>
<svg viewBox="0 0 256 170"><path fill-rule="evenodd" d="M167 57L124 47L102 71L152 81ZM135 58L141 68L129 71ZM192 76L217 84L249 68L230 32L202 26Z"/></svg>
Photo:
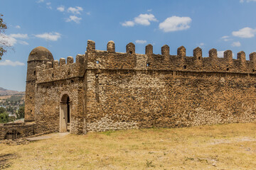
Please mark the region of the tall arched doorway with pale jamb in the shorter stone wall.
<svg viewBox="0 0 256 170"><path fill-rule="evenodd" d="M60 99L60 132L70 131L70 97L63 94Z"/></svg>

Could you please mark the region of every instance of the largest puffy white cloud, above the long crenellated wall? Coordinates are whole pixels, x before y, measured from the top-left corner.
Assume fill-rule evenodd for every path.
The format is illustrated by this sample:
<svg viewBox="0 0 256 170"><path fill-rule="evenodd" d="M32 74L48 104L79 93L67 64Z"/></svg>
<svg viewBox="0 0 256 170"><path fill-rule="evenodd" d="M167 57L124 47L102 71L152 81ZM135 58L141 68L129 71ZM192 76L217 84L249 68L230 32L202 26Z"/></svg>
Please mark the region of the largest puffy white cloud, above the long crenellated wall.
<svg viewBox="0 0 256 170"><path fill-rule="evenodd" d="M191 21L192 19L190 17L171 16L166 18L163 23L160 23L159 28L166 33L176 30L186 30L190 28L189 24Z"/></svg>

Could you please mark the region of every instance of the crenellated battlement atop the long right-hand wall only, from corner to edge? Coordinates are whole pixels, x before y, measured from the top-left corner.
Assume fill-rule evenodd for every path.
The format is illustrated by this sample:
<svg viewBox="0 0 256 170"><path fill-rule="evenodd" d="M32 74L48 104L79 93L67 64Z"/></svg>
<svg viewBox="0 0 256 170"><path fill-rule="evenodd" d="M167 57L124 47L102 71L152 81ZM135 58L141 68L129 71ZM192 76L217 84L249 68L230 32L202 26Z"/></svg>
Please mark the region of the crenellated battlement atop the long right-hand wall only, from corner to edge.
<svg viewBox="0 0 256 170"><path fill-rule="evenodd" d="M245 52L238 52L233 59L233 52L226 50L224 57L218 57L217 50L211 49L208 57L203 57L200 47L193 50L193 56L186 56L186 48L181 46L176 55L170 55L170 47L161 47L161 55L153 53L153 46L146 45L145 55L135 52L135 45L130 42L126 52L115 52L114 42L107 43L107 51L95 50L95 42L87 42L87 69L144 69L178 70L199 72L236 72L255 73L256 52L250 54L250 61L245 60Z"/></svg>

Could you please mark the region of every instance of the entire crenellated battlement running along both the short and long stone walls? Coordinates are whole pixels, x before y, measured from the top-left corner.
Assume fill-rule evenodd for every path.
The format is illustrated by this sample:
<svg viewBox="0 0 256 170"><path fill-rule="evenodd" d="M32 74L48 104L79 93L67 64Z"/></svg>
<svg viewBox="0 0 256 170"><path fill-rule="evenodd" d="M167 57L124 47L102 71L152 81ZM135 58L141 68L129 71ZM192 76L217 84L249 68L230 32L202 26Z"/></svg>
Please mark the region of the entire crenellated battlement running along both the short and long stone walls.
<svg viewBox="0 0 256 170"><path fill-rule="evenodd" d="M245 59L245 52L238 52L237 59L233 59L233 52L226 50L224 57L218 57L217 50L211 49L208 57L203 57L202 49L196 47L193 56L186 56L186 48L181 46L176 55L170 55L169 45L161 47L161 55L153 53L153 46L146 45L145 54L137 54L135 45L129 42L126 52L115 52L113 41L107 43L107 50L96 50L95 42L87 41L85 55L77 55L75 63L73 57L60 60L46 59L41 67L37 67L37 81L55 81L82 76L86 69L134 69L134 70L172 70L195 72L235 72L255 73L256 52L250 54L250 60Z"/></svg>

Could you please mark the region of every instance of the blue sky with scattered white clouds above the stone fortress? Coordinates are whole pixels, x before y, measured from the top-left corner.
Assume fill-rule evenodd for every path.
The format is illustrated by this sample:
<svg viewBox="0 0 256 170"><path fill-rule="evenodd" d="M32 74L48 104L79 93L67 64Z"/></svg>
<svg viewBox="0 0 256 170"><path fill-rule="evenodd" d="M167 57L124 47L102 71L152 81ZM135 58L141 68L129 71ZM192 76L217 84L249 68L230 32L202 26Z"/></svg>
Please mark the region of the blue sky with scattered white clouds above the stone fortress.
<svg viewBox="0 0 256 170"><path fill-rule="evenodd" d="M144 54L169 45L171 55L186 47L187 55L201 47L203 57L216 48L236 53L256 51L256 0L0 0L8 29L0 40L11 49L0 61L0 87L25 91L26 61L34 47L48 47L55 60L84 54L87 40L106 50L113 40L117 52L134 42ZM47 40L48 37L48 40ZM13 49L13 50L12 50Z"/></svg>

